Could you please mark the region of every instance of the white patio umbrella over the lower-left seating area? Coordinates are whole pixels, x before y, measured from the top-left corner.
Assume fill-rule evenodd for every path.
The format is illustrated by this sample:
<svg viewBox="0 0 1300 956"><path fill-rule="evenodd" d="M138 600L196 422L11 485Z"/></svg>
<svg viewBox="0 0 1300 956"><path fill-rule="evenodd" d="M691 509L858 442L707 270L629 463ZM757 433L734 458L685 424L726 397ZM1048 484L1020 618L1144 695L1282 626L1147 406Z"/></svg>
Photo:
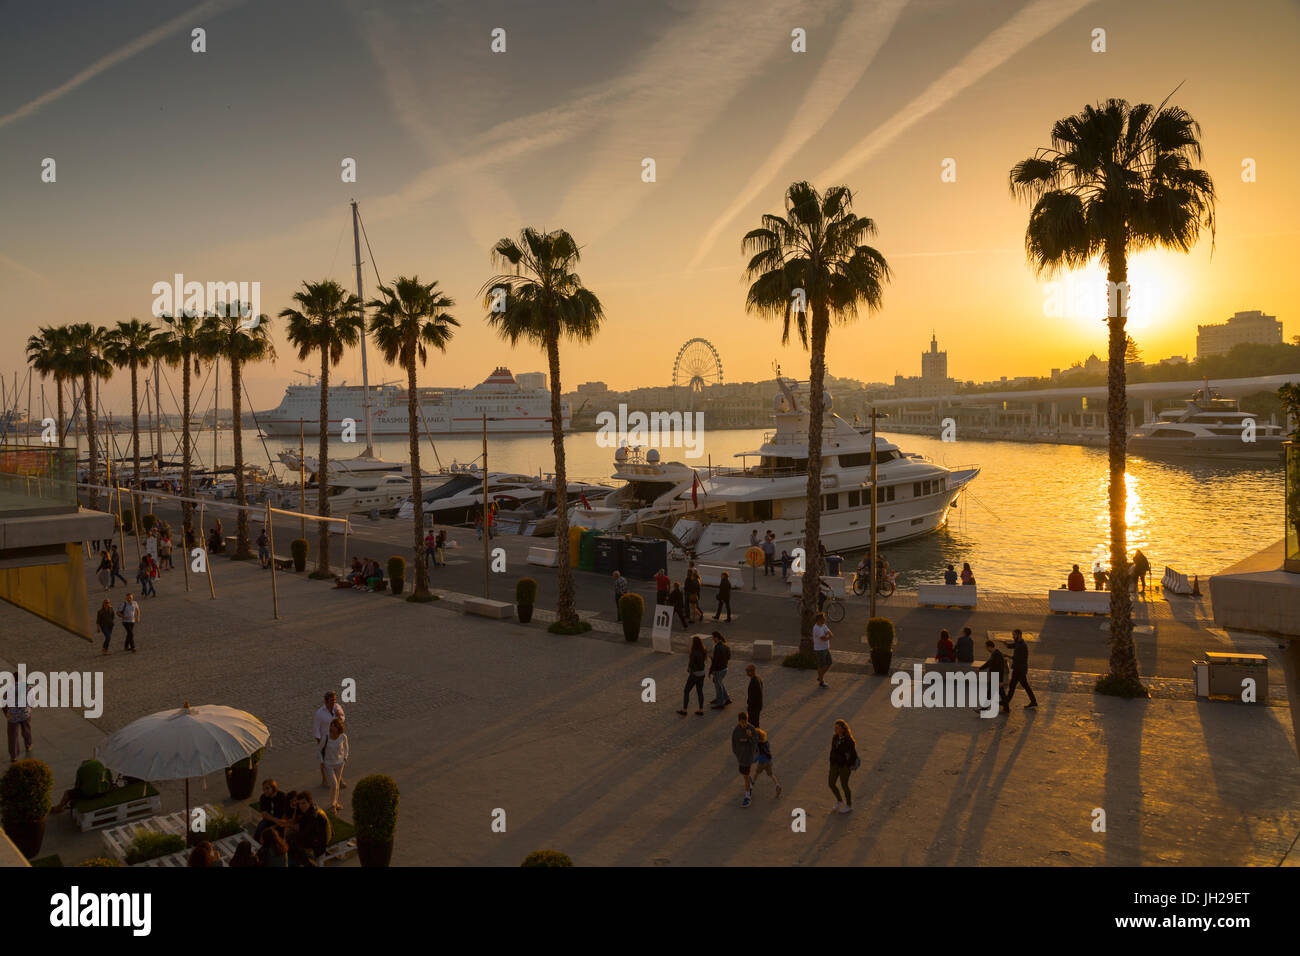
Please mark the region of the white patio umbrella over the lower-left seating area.
<svg viewBox="0 0 1300 956"><path fill-rule="evenodd" d="M109 770L140 780L185 778L185 830L190 832L190 778L225 770L270 744L266 724L252 714L222 706L188 702L160 710L122 727L95 748Z"/></svg>

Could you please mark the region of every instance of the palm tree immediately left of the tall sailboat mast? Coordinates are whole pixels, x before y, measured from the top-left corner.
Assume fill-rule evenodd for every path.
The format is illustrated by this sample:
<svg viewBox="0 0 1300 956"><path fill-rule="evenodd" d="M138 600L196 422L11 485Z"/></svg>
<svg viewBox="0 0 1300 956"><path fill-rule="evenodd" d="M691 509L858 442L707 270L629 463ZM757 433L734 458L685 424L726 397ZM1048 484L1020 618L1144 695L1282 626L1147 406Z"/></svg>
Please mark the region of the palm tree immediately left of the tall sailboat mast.
<svg viewBox="0 0 1300 956"><path fill-rule="evenodd" d="M361 337L361 300L332 278L303 282L294 293L299 308L281 310L280 317L289 320L289 341L298 346L298 358L306 359L313 351L321 354L321 411L320 460L316 467L317 514L329 518L329 367L343 358L343 349L354 346ZM329 522L320 523L313 578L330 578Z"/></svg>

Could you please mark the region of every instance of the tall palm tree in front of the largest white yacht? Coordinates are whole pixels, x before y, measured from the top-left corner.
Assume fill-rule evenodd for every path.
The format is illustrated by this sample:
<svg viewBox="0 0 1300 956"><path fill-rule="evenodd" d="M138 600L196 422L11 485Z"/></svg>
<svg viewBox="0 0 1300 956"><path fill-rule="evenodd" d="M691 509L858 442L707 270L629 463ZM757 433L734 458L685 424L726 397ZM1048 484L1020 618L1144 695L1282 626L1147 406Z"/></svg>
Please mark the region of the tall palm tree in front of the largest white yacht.
<svg viewBox="0 0 1300 956"><path fill-rule="evenodd" d="M848 186L832 186L820 194L809 182L794 182L785 191L785 215L763 216L762 225L746 233L742 242L744 251L750 254L745 268L750 280L745 308L780 319L781 345L790 341L793 325L810 355L807 514L803 522L807 570L800 618L800 652L805 657L812 654L812 619L820 584L826 346L832 319L852 321L859 303L868 311L880 308L889 264L880 252L863 245L875 232L872 220L853 212L853 193ZM875 436L871 440L875 441Z"/></svg>

